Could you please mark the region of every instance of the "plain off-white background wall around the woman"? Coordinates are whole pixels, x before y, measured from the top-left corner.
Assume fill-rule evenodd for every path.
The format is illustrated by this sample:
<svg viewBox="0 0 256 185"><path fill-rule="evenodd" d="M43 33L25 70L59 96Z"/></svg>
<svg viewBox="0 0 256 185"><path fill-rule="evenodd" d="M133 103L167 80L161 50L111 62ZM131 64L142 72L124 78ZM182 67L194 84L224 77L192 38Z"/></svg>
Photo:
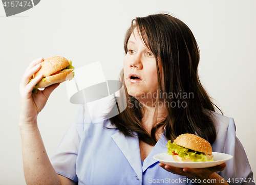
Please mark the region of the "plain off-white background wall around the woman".
<svg viewBox="0 0 256 185"><path fill-rule="evenodd" d="M123 37L137 16L167 11L194 33L199 75L224 115L232 117L252 171L255 162L255 1L66 1L44 0L6 17L0 5L1 129L0 184L26 184L18 128L19 83L39 57L63 56L75 67L101 61L107 80L117 80L124 58ZM90 80L90 79L88 79ZM49 156L74 119L62 83L38 117Z"/></svg>

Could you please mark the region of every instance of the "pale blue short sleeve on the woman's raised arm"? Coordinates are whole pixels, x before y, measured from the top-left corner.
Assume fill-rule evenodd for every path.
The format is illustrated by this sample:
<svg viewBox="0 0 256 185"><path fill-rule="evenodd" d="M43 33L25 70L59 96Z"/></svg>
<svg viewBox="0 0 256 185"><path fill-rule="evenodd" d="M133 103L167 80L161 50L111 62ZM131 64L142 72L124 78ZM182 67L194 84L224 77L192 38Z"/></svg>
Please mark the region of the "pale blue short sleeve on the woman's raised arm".
<svg viewBox="0 0 256 185"><path fill-rule="evenodd" d="M80 132L83 127L83 105L76 110L75 120L68 127L55 153L50 157L57 174L78 182L76 175L76 159L80 145Z"/></svg>

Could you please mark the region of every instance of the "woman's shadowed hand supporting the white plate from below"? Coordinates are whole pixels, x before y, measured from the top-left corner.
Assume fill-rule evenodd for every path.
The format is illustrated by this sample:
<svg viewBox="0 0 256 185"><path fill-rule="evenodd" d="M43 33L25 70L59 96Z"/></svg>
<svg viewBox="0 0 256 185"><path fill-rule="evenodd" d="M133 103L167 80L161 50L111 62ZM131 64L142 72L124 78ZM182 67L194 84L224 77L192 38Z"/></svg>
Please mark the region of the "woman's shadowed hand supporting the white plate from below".
<svg viewBox="0 0 256 185"><path fill-rule="evenodd" d="M210 168L177 168L177 167L173 167L173 166L169 166L169 165L165 165L163 163L159 163L159 166L162 167L164 170L177 174L177 175L183 175L186 176L190 179L200 179L201 180L201 184L206 184L207 183L207 179L217 179L216 183L212 183L212 184L228 184L226 181L225 183L221 183L224 180L220 180L222 179L222 177L220 175L218 175L217 171L222 171L225 169L226 167L226 163L223 163L221 165L215 166L215 167L210 167ZM205 183L203 183L206 180ZM214 182L214 181L212 181ZM207 184L211 184L211 183L207 183Z"/></svg>

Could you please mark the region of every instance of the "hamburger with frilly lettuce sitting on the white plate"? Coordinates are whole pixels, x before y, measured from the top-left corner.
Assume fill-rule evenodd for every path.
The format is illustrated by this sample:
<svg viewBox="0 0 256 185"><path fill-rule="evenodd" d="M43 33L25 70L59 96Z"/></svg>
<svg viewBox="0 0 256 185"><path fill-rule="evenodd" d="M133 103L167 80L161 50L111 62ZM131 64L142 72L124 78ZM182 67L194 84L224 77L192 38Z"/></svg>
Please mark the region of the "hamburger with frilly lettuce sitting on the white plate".
<svg viewBox="0 0 256 185"><path fill-rule="evenodd" d="M209 142L195 134L179 135L174 142L166 145L169 155L179 162L202 162L214 160Z"/></svg>

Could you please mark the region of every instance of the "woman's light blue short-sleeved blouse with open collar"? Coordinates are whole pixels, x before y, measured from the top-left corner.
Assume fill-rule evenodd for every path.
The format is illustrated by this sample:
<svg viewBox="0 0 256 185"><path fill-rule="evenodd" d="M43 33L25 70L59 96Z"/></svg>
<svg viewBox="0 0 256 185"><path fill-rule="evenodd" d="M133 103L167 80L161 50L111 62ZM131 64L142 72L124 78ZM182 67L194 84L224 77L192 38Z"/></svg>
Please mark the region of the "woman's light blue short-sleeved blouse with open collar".
<svg viewBox="0 0 256 185"><path fill-rule="evenodd" d="M213 114L218 134L212 150L233 156L219 174L225 180L230 179L230 184L241 184L241 178L247 178L246 184L254 184L252 179L248 183L253 175L244 148L236 137L233 119ZM196 184L159 167L153 156L166 152L166 143L162 135L142 165L137 135L124 136L109 121L92 124L86 106L79 105L75 120L50 160L58 174L78 184ZM239 183L236 178L240 178Z"/></svg>

